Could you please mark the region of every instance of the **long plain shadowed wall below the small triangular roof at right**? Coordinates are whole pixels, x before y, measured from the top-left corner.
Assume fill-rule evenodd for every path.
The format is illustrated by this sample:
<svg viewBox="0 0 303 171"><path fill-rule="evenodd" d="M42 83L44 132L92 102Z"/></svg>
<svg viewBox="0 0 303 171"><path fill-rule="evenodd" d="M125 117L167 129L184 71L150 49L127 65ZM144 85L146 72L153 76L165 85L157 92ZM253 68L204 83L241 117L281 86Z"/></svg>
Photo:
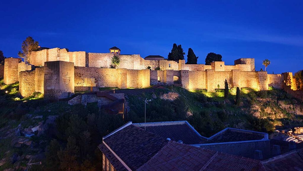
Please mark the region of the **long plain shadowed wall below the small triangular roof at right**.
<svg viewBox="0 0 303 171"><path fill-rule="evenodd" d="M261 150L263 158L270 157L270 140L224 144L214 143L205 144L200 147L252 159L254 158L255 150Z"/></svg>

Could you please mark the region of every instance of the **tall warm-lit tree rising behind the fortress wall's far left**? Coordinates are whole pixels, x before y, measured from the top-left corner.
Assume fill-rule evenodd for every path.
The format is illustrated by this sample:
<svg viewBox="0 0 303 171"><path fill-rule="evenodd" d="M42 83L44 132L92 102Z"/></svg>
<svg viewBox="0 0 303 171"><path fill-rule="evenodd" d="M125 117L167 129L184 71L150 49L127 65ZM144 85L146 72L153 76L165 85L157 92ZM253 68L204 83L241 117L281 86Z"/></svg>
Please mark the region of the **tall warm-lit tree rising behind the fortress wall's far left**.
<svg viewBox="0 0 303 171"><path fill-rule="evenodd" d="M30 62L31 52L38 49L39 43L32 37L28 36L22 43L21 51L18 52L18 56L24 59L24 61Z"/></svg>

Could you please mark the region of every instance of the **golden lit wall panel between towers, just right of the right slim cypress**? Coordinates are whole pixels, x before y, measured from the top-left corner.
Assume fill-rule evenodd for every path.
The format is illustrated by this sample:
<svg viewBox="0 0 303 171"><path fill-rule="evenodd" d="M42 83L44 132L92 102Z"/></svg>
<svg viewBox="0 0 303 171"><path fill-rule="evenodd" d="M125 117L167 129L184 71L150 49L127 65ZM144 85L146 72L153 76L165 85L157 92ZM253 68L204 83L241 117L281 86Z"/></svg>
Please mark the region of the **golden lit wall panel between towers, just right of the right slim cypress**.
<svg viewBox="0 0 303 171"><path fill-rule="evenodd" d="M240 83L239 88L249 87L252 89L257 89L257 73L249 71L240 71Z"/></svg>

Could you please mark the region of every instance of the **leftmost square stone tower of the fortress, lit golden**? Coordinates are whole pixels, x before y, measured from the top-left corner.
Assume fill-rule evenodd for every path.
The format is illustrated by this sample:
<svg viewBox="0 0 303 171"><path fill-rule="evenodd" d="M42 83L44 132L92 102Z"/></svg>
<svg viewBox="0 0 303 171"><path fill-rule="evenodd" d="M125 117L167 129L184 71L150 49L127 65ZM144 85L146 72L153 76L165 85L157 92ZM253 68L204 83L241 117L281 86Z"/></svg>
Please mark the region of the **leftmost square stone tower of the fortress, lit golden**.
<svg viewBox="0 0 303 171"><path fill-rule="evenodd" d="M4 84L18 82L18 63L19 58L6 58L4 60Z"/></svg>

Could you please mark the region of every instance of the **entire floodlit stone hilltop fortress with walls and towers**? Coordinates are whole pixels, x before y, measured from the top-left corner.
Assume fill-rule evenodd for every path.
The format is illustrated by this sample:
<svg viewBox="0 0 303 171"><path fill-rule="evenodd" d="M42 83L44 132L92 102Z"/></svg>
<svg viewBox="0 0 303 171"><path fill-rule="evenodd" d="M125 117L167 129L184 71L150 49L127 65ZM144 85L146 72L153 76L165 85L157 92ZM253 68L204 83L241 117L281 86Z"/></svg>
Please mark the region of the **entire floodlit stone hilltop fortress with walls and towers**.
<svg viewBox="0 0 303 171"><path fill-rule="evenodd" d="M143 59L140 55L120 53L117 47L110 48L109 53L40 48L31 53L28 62L21 62L18 58L5 59L4 83L19 81L19 92L23 97L41 92L45 98L60 99L75 91L89 90L89 86L124 89L166 84L215 91L224 88L227 79L230 88L268 90L269 86L283 89L288 74L292 79L292 73L255 71L253 58L240 58L234 65L225 65L223 61L205 65L185 64L185 60L170 61L162 56L151 55ZM110 68L114 55L120 58L116 69ZM146 69L148 66L152 69Z"/></svg>

